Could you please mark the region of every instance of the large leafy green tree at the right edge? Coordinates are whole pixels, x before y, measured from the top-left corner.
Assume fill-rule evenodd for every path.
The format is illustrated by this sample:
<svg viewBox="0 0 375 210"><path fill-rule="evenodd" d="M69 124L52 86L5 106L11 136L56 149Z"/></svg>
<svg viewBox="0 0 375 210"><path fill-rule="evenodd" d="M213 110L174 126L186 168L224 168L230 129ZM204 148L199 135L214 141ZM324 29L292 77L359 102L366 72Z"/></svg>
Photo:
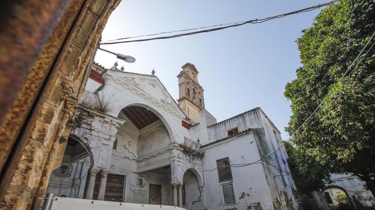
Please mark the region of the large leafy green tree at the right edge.
<svg viewBox="0 0 375 210"><path fill-rule="evenodd" d="M294 136L297 148L330 172L356 175L375 196L375 47L339 80L375 32L374 5L342 0L324 8L296 41L303 66L284 95L292 102L289 134L322 103Z"/></svg>

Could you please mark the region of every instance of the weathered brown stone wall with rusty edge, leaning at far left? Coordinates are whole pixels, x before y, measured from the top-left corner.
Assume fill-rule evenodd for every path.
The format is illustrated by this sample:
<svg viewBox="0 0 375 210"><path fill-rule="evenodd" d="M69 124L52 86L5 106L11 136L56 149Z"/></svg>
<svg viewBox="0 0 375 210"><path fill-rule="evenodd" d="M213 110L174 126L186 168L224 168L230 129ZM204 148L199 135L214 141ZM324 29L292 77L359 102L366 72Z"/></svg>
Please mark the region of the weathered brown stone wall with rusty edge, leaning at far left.
<svg viewBox="0 0 375 210"><path fill-rule="evenodd" d="M62 18L55 27L48 43L57 45L45 45L40 60L36 61L29 75L30 84L35 79L47 77L23 133L18 136L21 142L18 157L22 157L14 166L17 169L6 187L1 209L39 208L39 198L45 194L49 175L62 161L66 139L74 126L72 119L86 86L99 37L118 3L120 0L72 0L63 15L67 20ZM49 53L58 55L55 59L47 56L49 66L39 66L45 62L43 55ZM25 92L20 92L17 97L32 98L33 95L24 95L27 85L23 87L26 88ZM17 107L13 107L12 111L17 113ZM22 125L23 122L18 124ZM16 135L9 138L14 139ZM17 160L17 156L15 158Z"/></svg>

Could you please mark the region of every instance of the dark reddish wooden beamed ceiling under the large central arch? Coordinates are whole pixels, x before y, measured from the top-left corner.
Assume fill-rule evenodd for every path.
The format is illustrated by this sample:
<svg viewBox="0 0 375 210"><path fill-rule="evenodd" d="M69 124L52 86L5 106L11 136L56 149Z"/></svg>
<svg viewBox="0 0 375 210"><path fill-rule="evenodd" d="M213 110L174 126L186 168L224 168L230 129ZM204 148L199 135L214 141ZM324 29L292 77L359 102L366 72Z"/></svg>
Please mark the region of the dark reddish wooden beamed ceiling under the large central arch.
<svg viewBox="0 0 375 210"><path fill-rule="evenodd" d="M128 106L121 111L138 130L160 119L153 112L141 106Z"/></svg>

